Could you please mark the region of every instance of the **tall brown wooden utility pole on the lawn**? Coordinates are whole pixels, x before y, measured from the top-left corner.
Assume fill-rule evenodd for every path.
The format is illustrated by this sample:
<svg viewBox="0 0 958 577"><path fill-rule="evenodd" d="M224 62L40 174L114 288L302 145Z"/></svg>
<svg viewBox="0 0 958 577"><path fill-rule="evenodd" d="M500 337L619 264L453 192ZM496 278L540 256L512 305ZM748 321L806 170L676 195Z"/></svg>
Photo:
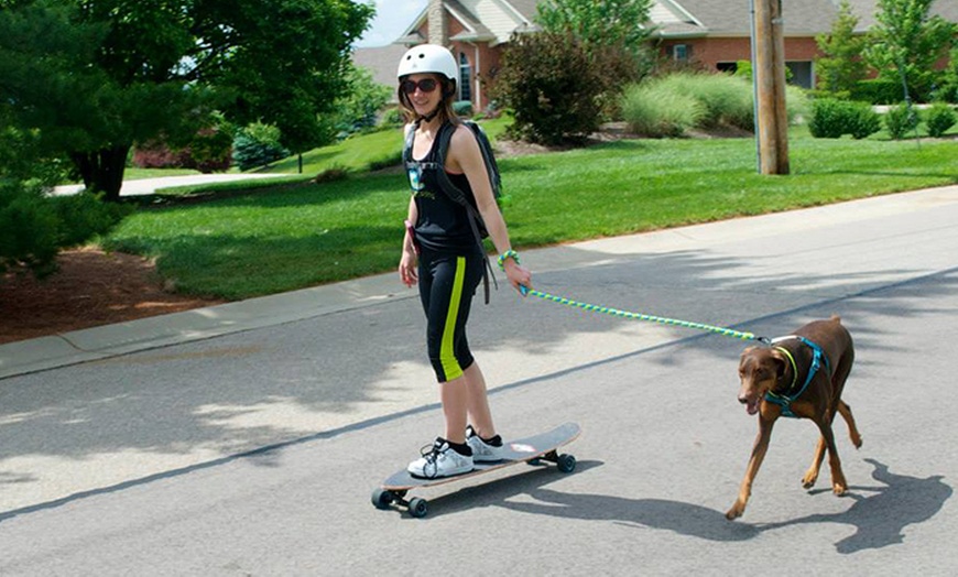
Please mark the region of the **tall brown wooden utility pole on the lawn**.
<svg viewBox="0 0 958 577"><path fill-rule="evenodd" d="M785 111L785 35L782 0L752 0L752 81L762 174L788 174L788 115Z"/></svg>

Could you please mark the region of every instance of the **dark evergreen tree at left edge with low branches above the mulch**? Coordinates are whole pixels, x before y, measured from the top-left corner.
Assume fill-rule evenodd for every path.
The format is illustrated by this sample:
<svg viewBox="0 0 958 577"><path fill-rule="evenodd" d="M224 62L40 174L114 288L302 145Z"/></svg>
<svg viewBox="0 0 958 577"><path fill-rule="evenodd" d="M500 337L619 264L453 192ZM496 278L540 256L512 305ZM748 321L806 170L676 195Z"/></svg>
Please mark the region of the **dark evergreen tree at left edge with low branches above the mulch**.
<svg viewBox="0 0 958 577"><path fill-rule="evenodd" d="M99 203L91 195L47 194L65 174L61 159L48 154L50 143L74 138L69 127L57 124L57 115L78 107L68 98L70 92L89 89L77 78L57 77L52 70L80 56L86 35L96 31L58 28L55 18L37 18L28 26L10 18L12 8L13 2L0 0L0 47L25 44L46 33L51 50L46 59L35 62L9 52L0 54L0 272L30 270L42 276L55 269L59 249L106 233L120 221L124 207ZM18 84L23 90L11 89ZM24 100L24 96L35 100ZM24 128L24 119L39 122ZM50 129L34 128L39 123Z"/></svg>

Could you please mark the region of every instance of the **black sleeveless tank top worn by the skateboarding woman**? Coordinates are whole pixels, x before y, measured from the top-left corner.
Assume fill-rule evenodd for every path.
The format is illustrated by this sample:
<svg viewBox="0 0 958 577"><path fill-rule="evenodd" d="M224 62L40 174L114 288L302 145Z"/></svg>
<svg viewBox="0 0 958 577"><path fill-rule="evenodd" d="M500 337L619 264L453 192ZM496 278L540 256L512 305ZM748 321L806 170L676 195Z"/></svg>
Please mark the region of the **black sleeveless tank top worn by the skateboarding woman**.
<svg viewBox="0 0 958 577"><path fill-rule="evenodd" d="M413 157L406 166L418 214L416 238L428 250L456 254L480 252L466 208L439 188L436 171L445 168L436 163L437 142L438 139L433 140L433 145L424 159ZM453 184L473 198L472 188L465 174L447 174Z"/></svg>

